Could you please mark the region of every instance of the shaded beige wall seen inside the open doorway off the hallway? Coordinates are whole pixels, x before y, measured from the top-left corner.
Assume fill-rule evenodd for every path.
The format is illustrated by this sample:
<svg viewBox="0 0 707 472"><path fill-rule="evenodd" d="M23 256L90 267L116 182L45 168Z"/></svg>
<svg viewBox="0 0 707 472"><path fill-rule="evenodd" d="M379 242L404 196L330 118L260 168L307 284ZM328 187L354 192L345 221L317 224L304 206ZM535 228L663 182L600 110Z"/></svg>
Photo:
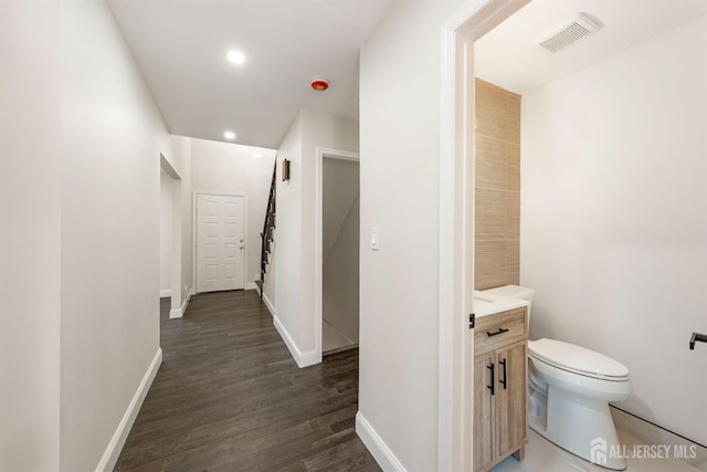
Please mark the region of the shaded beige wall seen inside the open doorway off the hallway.
<svg viewBox="0 0 707 472"><path fill-rule="evenodd" d="M321 315L358 343L360 166L325 157L321 167Z"/></svg>

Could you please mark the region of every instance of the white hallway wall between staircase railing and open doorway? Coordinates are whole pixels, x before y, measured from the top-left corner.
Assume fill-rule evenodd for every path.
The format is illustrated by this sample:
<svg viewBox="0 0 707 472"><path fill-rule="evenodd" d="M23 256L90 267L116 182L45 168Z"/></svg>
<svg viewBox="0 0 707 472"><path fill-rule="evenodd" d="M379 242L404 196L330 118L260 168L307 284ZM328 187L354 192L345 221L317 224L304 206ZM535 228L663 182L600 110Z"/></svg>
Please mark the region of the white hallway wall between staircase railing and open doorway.
<svg viewBox="0 0 707 472"><path fill-rule="evenodd" d="M357 151L358 123L303 109L278 147L276 324L281 323L287 333L285 337L291 337L288 347L295 350L296 358L300 357L298 361L307 359L300 366L317 361L314 256L317 147ZM281 178L283 159L292 161L288 181Z"/></svg>

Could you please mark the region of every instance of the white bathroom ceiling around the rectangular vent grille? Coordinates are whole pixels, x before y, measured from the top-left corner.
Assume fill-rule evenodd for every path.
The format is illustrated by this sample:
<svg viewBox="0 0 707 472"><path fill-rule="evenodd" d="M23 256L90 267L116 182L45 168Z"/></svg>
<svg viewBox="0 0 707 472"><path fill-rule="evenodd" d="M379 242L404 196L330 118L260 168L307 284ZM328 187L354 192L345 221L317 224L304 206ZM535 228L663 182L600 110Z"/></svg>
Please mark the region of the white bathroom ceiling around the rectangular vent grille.
<svg viewBox="0 0 707 472"><path fill-rule="evenodd" d="M707 0L532 0L476 43L476 76L523 94L706 11ZM555 54L537 45L580 12L604 28Z"/></svg>

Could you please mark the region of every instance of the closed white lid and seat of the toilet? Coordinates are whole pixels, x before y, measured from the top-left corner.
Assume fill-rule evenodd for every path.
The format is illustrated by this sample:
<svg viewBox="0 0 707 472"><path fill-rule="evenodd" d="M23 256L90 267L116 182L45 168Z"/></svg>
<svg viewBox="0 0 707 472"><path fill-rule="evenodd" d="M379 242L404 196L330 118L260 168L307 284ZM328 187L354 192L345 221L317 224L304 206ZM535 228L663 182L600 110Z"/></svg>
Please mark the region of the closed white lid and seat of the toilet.
<svg viewBox="0 0 707 472"><path fill-rule="evenodd" d="M585 347L555 339L538 339L528 343L528 354L562 370L606 380L626 380L629 369L611 357Z"/></svg>

